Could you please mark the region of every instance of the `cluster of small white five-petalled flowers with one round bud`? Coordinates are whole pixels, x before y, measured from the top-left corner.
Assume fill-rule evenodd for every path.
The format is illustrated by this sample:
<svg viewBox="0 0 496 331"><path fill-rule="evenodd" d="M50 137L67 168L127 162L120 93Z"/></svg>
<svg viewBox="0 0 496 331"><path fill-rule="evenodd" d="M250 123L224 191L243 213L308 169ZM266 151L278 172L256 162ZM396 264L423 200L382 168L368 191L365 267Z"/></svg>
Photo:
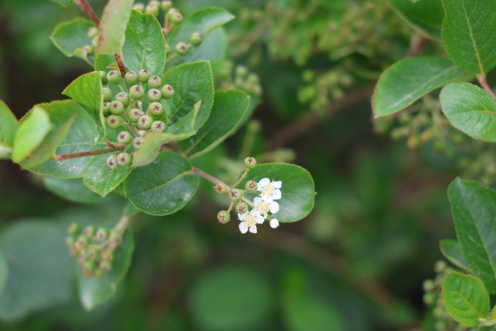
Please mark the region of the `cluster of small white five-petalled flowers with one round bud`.
<svg viewBox="0 0 496 331"><path fill-rule="evenodd" d="M263 224L269 217L269 212L275 214L279 211L279 203L275 200L281 199L281 180L271 181L269 178L262 178L257 184L259 196L253 199L255 208L244 214L238 214L239 231L241 233L257 233L257 224ZM279 221L275 218L269 222L271 228L279 227Z"/></svg>

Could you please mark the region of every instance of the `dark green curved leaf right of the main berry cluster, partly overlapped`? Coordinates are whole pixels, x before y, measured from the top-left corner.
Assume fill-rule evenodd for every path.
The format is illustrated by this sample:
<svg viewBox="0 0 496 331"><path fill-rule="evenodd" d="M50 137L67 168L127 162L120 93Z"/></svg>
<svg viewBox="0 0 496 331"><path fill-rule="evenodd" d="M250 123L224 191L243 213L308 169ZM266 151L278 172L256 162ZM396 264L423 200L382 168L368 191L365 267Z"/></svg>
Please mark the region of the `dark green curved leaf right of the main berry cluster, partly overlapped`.
<svg viewBox="0 0 496 331"><path fill-rule="evenodd" d="M248 109L250 97L238 90L217 91L212 112L198 134L180 143L191 159L213 150L229 137Z"/></svg>

